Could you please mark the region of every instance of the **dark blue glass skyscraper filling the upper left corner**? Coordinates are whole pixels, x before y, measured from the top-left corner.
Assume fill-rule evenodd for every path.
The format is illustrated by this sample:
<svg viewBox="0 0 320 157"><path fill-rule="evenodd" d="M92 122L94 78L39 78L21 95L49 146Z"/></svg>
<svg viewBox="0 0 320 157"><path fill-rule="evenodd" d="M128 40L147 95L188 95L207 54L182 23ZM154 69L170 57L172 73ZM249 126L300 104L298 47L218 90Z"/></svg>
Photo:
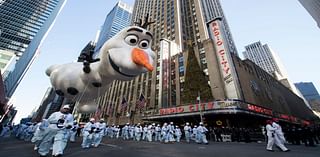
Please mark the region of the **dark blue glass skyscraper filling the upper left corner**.
<svg viewBox="0 0 320 157"><path fill-rule="evenodd" d="M39 46L66 0L0 1L1 64L7 97L11 97L39 54ZM7 57L3 56L6 55Z"/></svg>

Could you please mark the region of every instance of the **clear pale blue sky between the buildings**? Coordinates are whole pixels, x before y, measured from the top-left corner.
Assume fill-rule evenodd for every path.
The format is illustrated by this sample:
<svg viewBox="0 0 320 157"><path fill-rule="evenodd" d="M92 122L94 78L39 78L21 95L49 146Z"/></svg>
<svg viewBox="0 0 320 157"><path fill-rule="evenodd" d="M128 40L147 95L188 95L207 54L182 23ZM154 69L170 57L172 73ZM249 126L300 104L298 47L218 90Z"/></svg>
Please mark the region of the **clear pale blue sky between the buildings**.
<svg viewBox="0 0 320 157"><path fill-rule="evenodd" d="M134 0L122 0L134 4ZM50 87L47 67L75 61L94 40L117 0L68 0L40 55L12 97L18 110L15 122L39 107ZM313 82L320 89L320 28L298 0L221 0L240 57L244 46L268 44L280 57L292 82Z"/></svg>

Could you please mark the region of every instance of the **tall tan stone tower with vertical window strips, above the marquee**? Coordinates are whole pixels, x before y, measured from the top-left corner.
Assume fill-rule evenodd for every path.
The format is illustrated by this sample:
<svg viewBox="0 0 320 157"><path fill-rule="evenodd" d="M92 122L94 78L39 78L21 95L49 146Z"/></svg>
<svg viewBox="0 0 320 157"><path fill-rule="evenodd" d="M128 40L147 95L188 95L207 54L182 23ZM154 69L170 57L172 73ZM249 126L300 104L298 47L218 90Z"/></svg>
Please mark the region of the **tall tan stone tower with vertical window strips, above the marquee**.
<svg viewBox="0 0 320 157"><path fill-rule="evenodd" d="M199 92L185 87L188 57L194 58L194 60L191 59L192 62L195 61L199 64L199 69L192 71L199 72L201 76L198 77L206 80L204 84L199 85L203 86L201 89L211 91L208 57L206 57L204 50L204 41L211 38L207 23L215 18L223 19L221 26L223 31L221 32L224 33L228 41L225 46L228 47L228 52L237 55L219 0L214 0L214 2L206 0L136 0L132 23L139 21L139 19L145 19L147 15L149 21L155 22L148 29L153 32L152 48L157 54L156 60L158 62L155 65L157 68L153 72L140 75L133 81L114 82L107 92L107 96L101 102L101 104L115 104L113 108L116 108L116 112L112 115L107 113L109 117L115 117L117 114L125 116L126 112L130 114L130 118L133 117L132 114L143 114L136 110L136 102L140 93L147 100L147 105L143 110L179 106L190 103L189 101L194 102ZM188 45L194 47L192 55L188 53ZM187 76L192 76L192 74ZM214 81L211 81L212 87L215 88L213 83ZM184 91L189 91L188 93L192 95L188 100L181 98ZM119 113L118 106L122 97L125 97L131 105L127 111ZM212 96L208 96L208 98L203 96L202 98L204 100L213 99ZM107 110L109 108L112 107L106 107Z"/></svg>

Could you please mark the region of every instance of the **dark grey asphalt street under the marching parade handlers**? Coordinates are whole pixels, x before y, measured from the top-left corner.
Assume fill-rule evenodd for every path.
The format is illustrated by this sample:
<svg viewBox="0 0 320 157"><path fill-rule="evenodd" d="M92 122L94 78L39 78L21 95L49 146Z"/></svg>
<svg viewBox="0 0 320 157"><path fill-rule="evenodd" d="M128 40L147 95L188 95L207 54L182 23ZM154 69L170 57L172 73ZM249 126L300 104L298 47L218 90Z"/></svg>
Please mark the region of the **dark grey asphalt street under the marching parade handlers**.
<svg viewBox="0 0 320 157"><path fill-rule="evenodd" d="M320 146L305 147L304 145L287 145L290 152L265 150L265 143L219 143L209 145L158 142L136 142L123 140L104 140L98 148L81 149L81 142L69 143L65 157L318 157ZM15 138L0 139L0 156L35 157L33 144ZM51 155L50 155L51 156Z"/></svg>

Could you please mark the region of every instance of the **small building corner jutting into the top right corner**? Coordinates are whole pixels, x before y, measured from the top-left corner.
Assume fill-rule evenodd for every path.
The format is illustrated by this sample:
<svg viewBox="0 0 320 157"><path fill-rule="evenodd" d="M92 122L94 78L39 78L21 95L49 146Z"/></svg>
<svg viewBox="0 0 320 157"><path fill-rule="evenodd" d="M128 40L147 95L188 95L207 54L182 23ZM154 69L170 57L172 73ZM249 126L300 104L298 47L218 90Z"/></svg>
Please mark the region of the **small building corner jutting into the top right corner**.
<svg viewBox="0 0 320 157"><path fill-rule="evenodd" d="M299 0L304 8L309 12L320 28L320 1L319 0Z"/></svg>

